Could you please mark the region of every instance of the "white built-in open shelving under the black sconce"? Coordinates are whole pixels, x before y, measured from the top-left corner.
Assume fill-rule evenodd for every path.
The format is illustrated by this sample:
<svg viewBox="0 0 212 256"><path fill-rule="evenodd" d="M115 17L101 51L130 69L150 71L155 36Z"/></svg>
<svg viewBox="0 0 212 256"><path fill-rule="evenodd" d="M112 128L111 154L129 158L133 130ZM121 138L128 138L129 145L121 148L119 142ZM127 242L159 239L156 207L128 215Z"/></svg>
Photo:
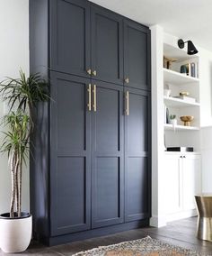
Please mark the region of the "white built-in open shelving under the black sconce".
<svg viewBox="0 0 212 256"><path fill-rule="evenodd" d="M177 125L172 126L166 121L166 111L164 110L163 133L166 147L187 146L193 147L194 151L199 151L199 127L200 127L200 102L199 102L199 74L191 77L181 74L181 65L194 62L199 68L199 57L190 56L185 50L178 49L163 43L163 56L175 59L170 69L163 68L163 88L170 89L170 96L163 96L163 104L168 108L169 114L175 114ZM198 73L198 72L196 72ZM188 92L193 99L181 99L181 92ZM184 126L181 122L181 115L192 115L194 120L190 126ZM181 133L180 133L181 132Z"/></svg>

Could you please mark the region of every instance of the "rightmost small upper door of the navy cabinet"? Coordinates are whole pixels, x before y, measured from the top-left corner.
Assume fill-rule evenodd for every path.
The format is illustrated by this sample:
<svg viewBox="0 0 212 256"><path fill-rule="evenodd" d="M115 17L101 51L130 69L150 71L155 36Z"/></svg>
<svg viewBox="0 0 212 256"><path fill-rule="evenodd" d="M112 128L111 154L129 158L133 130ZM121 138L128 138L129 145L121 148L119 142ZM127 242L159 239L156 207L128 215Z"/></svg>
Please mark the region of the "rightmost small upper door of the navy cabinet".
<svg viewBox="0 0 212 256"><path fill-rule="evenodd" d="M125 20L125 86L150 90L150 47L150 30L138 23Z"/></svg>

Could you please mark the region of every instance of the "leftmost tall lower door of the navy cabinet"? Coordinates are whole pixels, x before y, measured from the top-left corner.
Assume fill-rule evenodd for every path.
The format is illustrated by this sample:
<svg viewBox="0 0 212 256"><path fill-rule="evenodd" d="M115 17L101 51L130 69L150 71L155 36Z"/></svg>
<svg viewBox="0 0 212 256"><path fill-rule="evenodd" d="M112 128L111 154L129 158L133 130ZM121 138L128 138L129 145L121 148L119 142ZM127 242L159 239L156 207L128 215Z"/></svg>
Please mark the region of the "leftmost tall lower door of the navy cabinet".
<svg viewBox="0 0 212 256"><path fill-rule="evenodd" d="M51 72L51 235L91 227L89 82Z"/></svg>

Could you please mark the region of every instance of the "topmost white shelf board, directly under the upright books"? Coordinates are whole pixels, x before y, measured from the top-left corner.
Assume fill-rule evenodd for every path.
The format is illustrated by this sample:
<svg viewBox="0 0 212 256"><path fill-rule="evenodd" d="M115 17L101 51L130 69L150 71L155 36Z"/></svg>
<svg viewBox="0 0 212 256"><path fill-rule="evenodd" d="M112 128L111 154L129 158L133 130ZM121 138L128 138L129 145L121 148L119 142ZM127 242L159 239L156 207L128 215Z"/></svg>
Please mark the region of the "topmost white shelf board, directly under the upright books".
<svg viewBox="0 0 212 256"><path fill-rule="evenodd" d="M192 78L186 75L182 75L179 72L172 71L171 69L163 68L163 80L165 83L172 85L183 85L183 84L199 84L199 78Z"/></svg>

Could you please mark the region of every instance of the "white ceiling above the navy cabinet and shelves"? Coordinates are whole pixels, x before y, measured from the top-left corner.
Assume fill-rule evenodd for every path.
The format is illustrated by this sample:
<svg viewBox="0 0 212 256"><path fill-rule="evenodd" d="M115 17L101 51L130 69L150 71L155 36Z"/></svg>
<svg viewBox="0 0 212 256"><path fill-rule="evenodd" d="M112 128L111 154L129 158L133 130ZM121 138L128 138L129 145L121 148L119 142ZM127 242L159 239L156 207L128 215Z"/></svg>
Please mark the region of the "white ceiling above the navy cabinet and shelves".
<svg viewBox="0 0 212 256"><path fill-rule="evenodd" d="M159 24L164 32L212 51L211 0L90 0L138 23Z"/></svg>

